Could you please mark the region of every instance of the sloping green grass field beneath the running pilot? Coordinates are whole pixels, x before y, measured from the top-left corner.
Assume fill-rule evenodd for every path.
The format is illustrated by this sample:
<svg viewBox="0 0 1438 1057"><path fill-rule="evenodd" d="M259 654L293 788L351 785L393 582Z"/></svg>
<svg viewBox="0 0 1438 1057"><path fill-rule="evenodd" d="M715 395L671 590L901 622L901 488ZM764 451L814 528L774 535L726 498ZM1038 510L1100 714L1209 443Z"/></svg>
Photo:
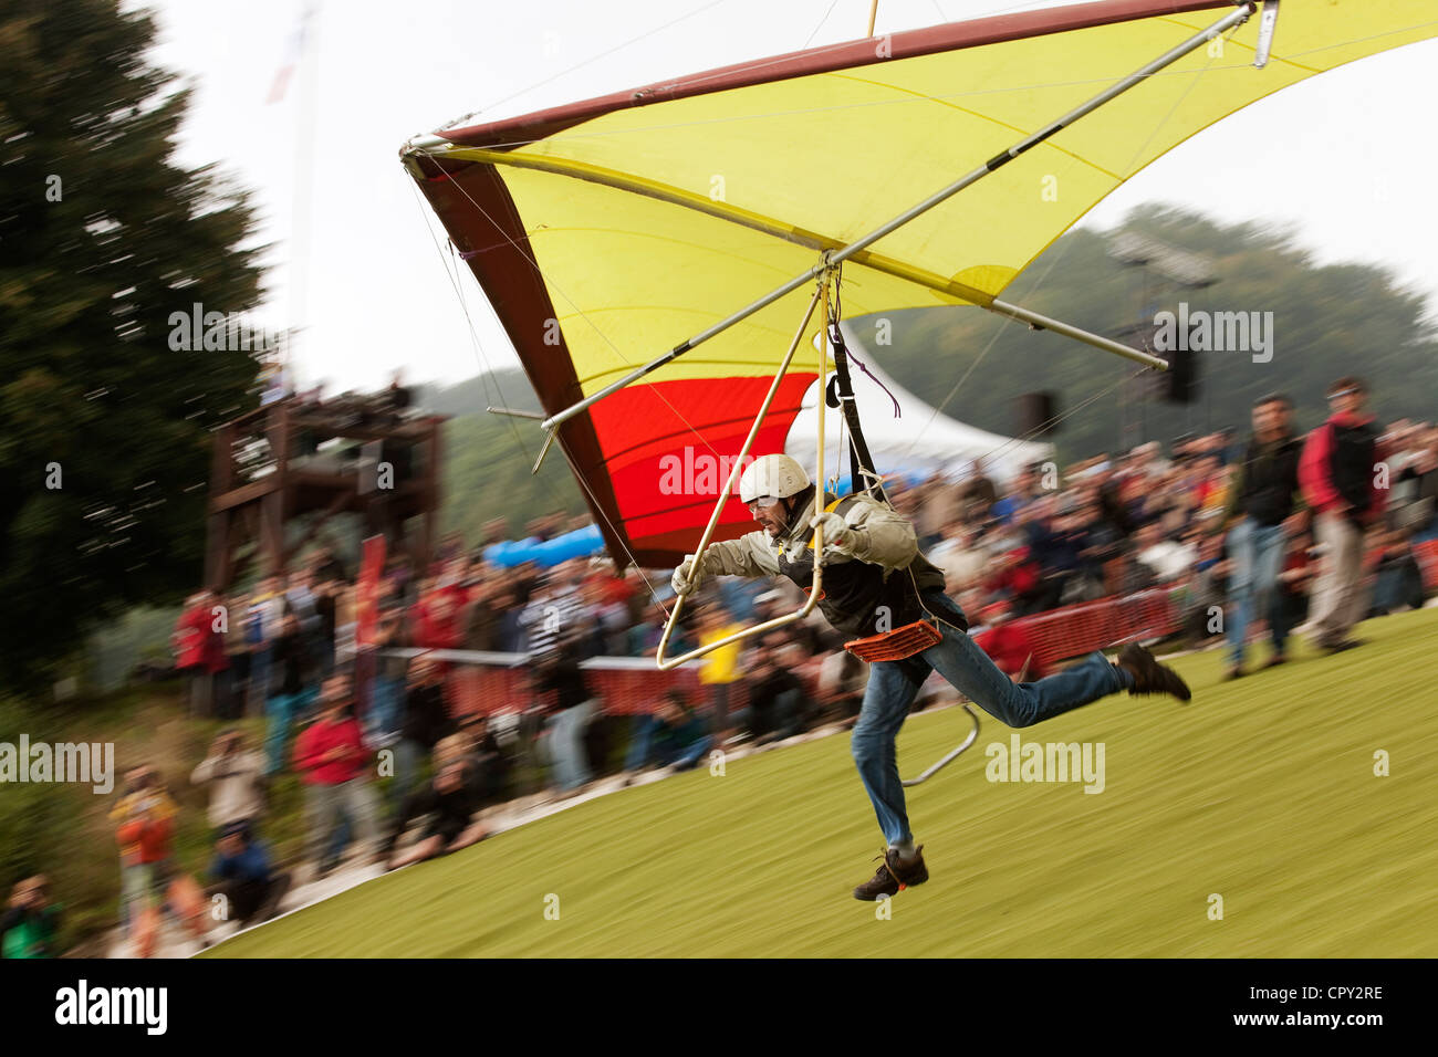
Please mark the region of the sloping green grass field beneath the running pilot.
<svg viewBox="0 0 1438 1057"><path fill-rule="evenodd" d="M1232 683L1218 653L1183 657L1186 708L1114 696L1018 732L1103 742L1097 795L986 781L985 746L1012 732L985 715L910 791L930 880L887 920L850 896L883 838L840 735L581 804L210 955L1432 958L1438 610L1359 633ZM900 769L966 729L913 716Z"/></svg>

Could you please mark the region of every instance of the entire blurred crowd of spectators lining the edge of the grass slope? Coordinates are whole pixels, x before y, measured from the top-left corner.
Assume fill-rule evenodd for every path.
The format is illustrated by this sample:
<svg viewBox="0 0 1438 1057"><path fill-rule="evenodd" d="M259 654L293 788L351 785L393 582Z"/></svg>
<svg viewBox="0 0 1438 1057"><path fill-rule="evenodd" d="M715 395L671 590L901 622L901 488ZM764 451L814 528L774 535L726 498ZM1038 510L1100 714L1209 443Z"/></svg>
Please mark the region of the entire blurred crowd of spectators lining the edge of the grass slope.
<svg viewBox="0 0 1438 1057"><path fill-rule="evenodd" d="M979 644L1012 677L1037 679L1047 667L1024 617L1152 588L1182 600L1191 640L1215 639L1209 616L1229 616L1237 676L1255 624L1267 624L1270 663L1281 663L1287 634L1306 620L1320 646L1347 649L1362 617L1424 601L1414 546L1438 539L1438 429L1398 421L1379 431L1365 401L1360 383L1342 380L1332 416L1307 437L1291 431L1288 401L1268 397L1248 437L1225 430L1179 437L1168 450L1146 443L1064 467L1035 463L1012 482L974 465L958 480L894 482L889 499L945 569ZM557 515L529 528L545 536L569 526ZM483 544L503 529L483 526ZM246 590L196 594L174 636L193 713L265 719L263 745L226 731L191 774L210 788L209 892L224 893L244 922L276 912L290 874L259 831L282 772L303 787L305 861L324 874L347 848L393 867L483 840L483 808L545 782L569 794L597 774L692 768L735 741L854 720L866 666L817 620L720 647L703 659L697 687L669 689L621 722L604 715L584 662L653 654L666 572L615 577L587 559L500 568L454 534L424 568L390 558L364 649L357 571L329 545ZM801 601L782 580L710 581L670 654ZM528 699L496 709L509 715L457 712L446 686L464 659L436 650L476 660L528 654ZM131 774L114 814L131 923L173 899L174 813L152 771ZM417 836L406 846L411 825ZM7 912L7 935L24 938L12 946L40 948L53 929L43 879L32 882Z"/></svg>

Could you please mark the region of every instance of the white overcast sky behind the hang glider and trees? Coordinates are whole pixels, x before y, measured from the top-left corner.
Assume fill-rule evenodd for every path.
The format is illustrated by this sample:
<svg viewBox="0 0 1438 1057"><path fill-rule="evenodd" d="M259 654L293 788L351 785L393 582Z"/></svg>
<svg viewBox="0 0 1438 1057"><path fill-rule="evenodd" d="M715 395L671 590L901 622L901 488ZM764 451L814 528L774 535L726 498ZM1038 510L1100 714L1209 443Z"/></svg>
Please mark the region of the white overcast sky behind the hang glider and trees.
<svg viewBox="0 0 1438 1057"><path fill-rule="evenodd" d="M869 16L869 0L324 0L305 59L313 65L266 105L302 0L127 4L137 6L160 23L154 59L196 89L181 161L217 161L255 191L279 265L260 314L275 328L299 311L296 125L301 81L312 76L308 329L295 368L302 385L325 381L331 393L384 384L401 365L410 381L452 383L483 370L482 357L495 368L516 362L464 272L475 348L430 236L439 224L398 163L411 135L470 111L522 114L851 40ZM880 0L876 33L1055 6ZM1388 263L1438 306L1435 70L1438 40L1428 40L1286 89L1169 152L1083 224L1109 227L1152 200L1221 220L1293 221L1320 262Z"/></svg>

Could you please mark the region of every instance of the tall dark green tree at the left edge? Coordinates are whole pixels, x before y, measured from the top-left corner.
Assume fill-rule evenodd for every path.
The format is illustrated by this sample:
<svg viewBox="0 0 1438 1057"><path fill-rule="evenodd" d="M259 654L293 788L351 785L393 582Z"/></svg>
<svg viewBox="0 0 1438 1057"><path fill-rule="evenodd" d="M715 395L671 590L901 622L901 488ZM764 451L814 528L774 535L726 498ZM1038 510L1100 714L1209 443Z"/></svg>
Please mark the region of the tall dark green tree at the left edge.
<svg viewBox="0 0 1438 1057"><path fill-rule="evenodd" d="M188 91L148 62L154 36L114 0L0 14L6 685L198 585L210 430L256 403L232 314L259 303L265 247L243 190L174 161ZM224 318L200 348L194 305Z"/></svg>

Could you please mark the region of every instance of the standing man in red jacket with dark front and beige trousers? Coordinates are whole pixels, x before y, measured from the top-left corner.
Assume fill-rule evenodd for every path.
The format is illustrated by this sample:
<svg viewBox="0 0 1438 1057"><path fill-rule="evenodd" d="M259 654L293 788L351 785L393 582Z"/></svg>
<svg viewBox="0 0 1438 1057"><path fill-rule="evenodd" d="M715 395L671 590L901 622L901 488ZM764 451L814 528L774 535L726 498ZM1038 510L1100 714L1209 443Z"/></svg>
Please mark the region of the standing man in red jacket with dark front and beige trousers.
<svg viewBox="0 0 1438 1057"><path fill-rule="evenodd" d="M1329 385L1332 416L1309 434L1299 460L1299 485L1313 511L1313 534L1323 546L1323 567L1313 585L1309 626L1313 643L1329 653L1359 646L1349 633L1366 610L1363 529L1383 512L1378 488L1378 429L1357 378Z"/></svg>

